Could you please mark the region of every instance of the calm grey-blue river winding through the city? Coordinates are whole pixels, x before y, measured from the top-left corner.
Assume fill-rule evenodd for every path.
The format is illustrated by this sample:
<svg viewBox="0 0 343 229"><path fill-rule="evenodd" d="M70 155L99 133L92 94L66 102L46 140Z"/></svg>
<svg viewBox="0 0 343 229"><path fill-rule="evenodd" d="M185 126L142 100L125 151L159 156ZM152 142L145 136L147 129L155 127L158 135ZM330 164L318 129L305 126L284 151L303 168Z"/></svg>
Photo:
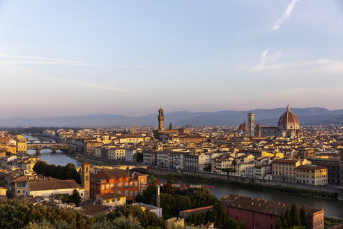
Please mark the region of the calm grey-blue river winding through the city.
<svg viewBox="0 0 343 229"><path fill-rule="evenodd" d="M40 154L36 154L36 151L29 150L29 154L39 156L41 160L46 161L49 164L55 165L66 165L68 163L74 163L76 166L82 164L82 162L75 160L74 158L70 158L66 154L63 154L59 151L56 154L52 154L51 150L43 149L40 151ZM328 199L321 199L321 198L313 198L310 196L304 195L293 195L287 193L277 193L272 191L261 191L255 189L244 189L239 186L224 186L220 184L213 184L211 182L185 182L184 180L176 180L178 184L211 184L215 186L215 189L209 189L213 195L217 198L221 198L224 195L229 194L237 194L237 195L246 195L252 198L260 198L266 200L274 200L277 202L296 202L298 207L300 206L308 206L308 207L316 207L316 208L323 208L326 212L326 216L343 218L343 200L328 200Z"/></svg>

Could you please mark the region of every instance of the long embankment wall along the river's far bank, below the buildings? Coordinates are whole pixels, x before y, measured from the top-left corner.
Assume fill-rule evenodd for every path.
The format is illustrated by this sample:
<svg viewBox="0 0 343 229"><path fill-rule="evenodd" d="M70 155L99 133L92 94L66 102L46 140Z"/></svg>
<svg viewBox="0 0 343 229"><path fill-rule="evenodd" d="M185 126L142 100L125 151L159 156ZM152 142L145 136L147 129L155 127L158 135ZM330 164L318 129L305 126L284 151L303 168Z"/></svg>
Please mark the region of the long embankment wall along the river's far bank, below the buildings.
<svg viewBox="0 0 343 229"><path fill-rule="evenodd" d="M156 176L163 176L166 177L169 174L172 175L179 175L185 177L192 176L192 177L201 177L201 179L208 179L208 182L211 181L211 179L223 179L223 180L229 180L229 181L236 181L236 182L244 182L244 183L255 183L255 184L264 184L269 186L284 186L288 188L293 189L305 189L309 191L317 191L317 192L323 192L323 193L337 193L337 198L342 198L343 193L340 190L340 188L337 187L330 187L330 186L314 186L314 185L306 185L306 184L295 184L295 183L287 183L287 182L277 182L277 181L271 181L266 179L256 179L256 178L249 178L249 177L234 177L234 176L227 176L227 175L220 175L215 174L212 172L190 172L190 171L181 171L181 170L169 170L164 168L155 168L155 167L148 167L146 170L146 173L153 174Z"/></svg>

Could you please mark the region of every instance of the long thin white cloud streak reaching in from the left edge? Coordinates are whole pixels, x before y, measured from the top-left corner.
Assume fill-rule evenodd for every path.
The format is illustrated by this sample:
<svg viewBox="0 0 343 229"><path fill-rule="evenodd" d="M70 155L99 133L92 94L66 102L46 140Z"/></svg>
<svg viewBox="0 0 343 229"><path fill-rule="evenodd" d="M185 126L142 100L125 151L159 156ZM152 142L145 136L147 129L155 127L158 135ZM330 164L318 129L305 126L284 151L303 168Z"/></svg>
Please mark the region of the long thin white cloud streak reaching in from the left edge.
<svg viewBox="0 0 343 229"><path fill-rule="evenodd" d="M47 64L47 65L70 65L70 66L91 66L91 67L109 67L109 68L126 68L133 66L107 66L101 64L90 64L83 61L70 61L66 59L54 59L47 57L31 57L0 54L0 64Z"/></svg>

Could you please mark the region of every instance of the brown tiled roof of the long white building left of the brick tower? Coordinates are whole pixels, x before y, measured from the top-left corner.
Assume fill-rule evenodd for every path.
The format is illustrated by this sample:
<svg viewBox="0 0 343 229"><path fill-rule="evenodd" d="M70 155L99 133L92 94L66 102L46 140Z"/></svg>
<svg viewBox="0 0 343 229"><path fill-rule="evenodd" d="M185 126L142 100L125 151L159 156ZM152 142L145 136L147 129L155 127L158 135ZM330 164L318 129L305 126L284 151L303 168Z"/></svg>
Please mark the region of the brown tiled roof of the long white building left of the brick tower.
<svg viewBox="0 0 343 229"><path fill-rule="evenodd" d="M42 182L29 182L27 183L30 191L43 191L52 189L79 189L79 184L76 184L75 180L54 180L54 181L42 181Z"/></svg>

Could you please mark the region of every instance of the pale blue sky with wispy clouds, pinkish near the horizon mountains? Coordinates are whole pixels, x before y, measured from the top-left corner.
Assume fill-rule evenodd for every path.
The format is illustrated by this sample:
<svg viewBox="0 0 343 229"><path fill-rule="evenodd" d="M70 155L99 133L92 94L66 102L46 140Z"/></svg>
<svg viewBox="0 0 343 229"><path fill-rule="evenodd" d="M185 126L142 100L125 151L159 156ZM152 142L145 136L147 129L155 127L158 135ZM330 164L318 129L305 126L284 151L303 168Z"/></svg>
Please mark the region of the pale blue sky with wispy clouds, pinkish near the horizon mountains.
<svg viewBox="0 0 343 229"><path fill-rule="evenodd" d="M341 0L0 0L0 118L343 108Z"/></svg>

